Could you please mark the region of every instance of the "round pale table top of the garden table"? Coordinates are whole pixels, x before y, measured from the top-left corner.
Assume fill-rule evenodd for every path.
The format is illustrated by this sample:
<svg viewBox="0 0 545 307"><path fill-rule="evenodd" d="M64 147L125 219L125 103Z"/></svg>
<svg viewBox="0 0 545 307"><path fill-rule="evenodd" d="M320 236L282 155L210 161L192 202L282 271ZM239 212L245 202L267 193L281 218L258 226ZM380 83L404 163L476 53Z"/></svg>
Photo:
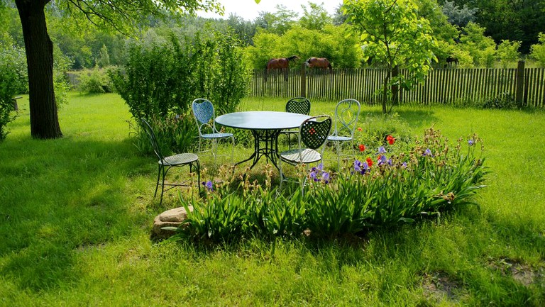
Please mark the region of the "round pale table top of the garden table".
<svg viewBox="0 0 545 307"><path fill-rule="evenodd" d="M311 116L276 111L247 111L216 117L216 123L232 128L251 130L280 130L299 128Z"/></svg>

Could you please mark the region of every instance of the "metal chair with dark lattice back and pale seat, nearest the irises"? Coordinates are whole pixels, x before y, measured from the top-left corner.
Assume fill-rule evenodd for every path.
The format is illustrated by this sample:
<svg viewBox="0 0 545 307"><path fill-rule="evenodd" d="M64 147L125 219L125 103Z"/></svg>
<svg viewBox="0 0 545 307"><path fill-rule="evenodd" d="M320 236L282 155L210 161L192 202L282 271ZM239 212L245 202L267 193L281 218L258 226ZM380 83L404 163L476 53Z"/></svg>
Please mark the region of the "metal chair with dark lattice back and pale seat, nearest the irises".
<svg viewBox="0 0 545 307"><path fill-rule="evenodd" d="M282 172L282 162L292 165L309 164L322 160L327 136L331 131L331 117L327 115L314 116L299 126L298 148L280 152L278 169L280 170L280 189L282 182L287 181ZM322 147L321 152L319 148ZM301 186L303 189L304 184Z"/></svg>

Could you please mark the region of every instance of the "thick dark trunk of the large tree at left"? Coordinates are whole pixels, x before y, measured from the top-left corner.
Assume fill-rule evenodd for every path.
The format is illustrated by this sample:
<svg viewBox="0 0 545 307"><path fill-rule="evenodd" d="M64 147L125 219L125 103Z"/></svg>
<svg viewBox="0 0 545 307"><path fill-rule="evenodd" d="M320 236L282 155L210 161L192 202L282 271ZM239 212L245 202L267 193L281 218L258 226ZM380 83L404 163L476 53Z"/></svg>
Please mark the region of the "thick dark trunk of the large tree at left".
<svg viewBox="0 0 545 307"><path fill-rule="evenodd" d="M28 91L33 138L60 138L57 104L53 91L53 43L45 23L50 0L16 0L28 65Z"/></svg>

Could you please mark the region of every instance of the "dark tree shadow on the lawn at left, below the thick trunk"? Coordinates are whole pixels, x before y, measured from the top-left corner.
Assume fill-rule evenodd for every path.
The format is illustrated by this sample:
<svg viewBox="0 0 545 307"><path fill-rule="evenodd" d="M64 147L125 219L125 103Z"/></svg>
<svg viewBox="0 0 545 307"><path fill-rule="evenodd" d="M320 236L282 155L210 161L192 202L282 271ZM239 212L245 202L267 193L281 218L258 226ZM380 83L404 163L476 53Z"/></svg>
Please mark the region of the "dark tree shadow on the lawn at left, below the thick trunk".
<svg viewBox="0 0 545 307"><path fill-rule="evenodd" d="M145 210L131 208L141 198L131 185L138 177L155 184L156 161L136 156L130 140L21 143L0 154L0 274L21 289L77 281L77 250L148 224Z"/></svg>

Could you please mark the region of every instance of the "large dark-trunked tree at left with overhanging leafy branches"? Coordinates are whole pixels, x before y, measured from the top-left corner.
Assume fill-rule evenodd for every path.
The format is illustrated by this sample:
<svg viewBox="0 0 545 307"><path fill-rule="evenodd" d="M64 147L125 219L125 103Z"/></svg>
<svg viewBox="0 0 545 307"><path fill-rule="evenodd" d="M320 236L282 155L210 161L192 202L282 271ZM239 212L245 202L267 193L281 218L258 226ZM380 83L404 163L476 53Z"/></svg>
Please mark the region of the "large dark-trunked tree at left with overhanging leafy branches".
<svg viewBox="0 0 545 307"><path fill-rule="evenodd" d="M2 0L3 2L6 0ZM53 42L48 34L45 8L52 0L15 0L23 28L31 113L31 135L34 138L60 138L53 86ZM220 11L215 0L55 0L65 16L83 14L97 26L126 30L136 26L141 16L197 9Z"/></svg>

